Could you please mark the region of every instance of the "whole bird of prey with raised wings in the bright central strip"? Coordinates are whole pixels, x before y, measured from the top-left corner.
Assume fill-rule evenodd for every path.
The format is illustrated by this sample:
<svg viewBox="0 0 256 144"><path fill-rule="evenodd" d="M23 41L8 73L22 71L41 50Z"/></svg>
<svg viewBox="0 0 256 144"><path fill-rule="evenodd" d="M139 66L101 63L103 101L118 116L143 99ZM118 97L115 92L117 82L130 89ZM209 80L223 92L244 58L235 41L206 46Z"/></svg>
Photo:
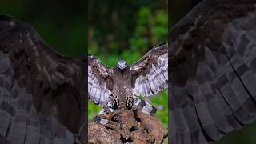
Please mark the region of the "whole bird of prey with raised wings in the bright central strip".
<svg viewBox="0 0 256 144"><path fill-rule="evenodd" d="M142 108L146 114L156 109L136 96L157 94L168 86L168 46L155 46L138 62L128 65L120 60L115 67L107 67L95 56L88 56L88 98L106 105L99 115L119 109ZM102 118L95 122L106 123Z"/></svg>

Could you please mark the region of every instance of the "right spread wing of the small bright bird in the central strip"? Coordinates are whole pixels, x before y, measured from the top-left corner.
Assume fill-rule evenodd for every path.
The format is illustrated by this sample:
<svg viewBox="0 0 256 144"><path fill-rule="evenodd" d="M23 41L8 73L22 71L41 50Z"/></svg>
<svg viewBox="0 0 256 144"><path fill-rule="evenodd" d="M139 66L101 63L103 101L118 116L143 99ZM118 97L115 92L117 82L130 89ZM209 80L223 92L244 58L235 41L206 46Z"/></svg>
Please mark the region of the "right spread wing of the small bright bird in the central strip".
<svg viewBox="0 0 256 144"><path fill-rule="evenodd" d="M131 68L132 89L134 94L150 96L167 88L168 83L168 46L155 46Z"/></svg>

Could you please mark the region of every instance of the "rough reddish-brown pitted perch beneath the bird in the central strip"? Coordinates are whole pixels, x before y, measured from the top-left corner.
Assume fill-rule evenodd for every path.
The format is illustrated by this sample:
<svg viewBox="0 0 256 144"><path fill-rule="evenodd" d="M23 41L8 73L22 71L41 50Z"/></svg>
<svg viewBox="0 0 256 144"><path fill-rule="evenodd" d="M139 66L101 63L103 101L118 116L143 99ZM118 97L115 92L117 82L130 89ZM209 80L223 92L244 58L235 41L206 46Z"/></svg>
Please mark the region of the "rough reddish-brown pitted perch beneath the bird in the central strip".
<svg viewBox="0 0 256 144"><path fill-rule="evenodd" d="M158 121L139 110L117 110L109 123L90 123L88 143L165 143L167 130Z"/></svg>

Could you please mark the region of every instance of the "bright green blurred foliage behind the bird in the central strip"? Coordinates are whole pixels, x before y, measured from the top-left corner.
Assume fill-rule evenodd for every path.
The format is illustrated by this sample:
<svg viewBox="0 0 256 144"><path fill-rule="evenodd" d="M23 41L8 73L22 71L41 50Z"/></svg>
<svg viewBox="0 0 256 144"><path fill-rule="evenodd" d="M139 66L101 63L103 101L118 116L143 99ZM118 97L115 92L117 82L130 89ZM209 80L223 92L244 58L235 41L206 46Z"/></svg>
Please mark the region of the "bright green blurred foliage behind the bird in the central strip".
<svg viewBox="0 0 256 144"><path fill-rule="evenodd" d="M168 0L95 0L88 5L88 52L106 66L115 66L121 58L133 64L152 47L167 42ZM167 127L167 90L150 101L158 107L156 116ZM101 109L89 102L89 120Z"/></svg>

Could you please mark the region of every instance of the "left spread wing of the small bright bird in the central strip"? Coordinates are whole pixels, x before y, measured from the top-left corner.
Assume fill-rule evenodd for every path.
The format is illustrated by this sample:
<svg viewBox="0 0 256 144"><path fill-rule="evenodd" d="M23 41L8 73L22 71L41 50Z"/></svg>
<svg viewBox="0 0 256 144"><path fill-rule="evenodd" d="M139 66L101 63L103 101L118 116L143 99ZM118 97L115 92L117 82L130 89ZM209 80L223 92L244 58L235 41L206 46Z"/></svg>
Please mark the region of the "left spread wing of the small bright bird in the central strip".
<svg viewBox="0 0 256 144"><path fill-rule="evenodd" d="M88 98L96 104L110 102L113 90L113 70L104 66L95 56L88 56Z"/></svg>

